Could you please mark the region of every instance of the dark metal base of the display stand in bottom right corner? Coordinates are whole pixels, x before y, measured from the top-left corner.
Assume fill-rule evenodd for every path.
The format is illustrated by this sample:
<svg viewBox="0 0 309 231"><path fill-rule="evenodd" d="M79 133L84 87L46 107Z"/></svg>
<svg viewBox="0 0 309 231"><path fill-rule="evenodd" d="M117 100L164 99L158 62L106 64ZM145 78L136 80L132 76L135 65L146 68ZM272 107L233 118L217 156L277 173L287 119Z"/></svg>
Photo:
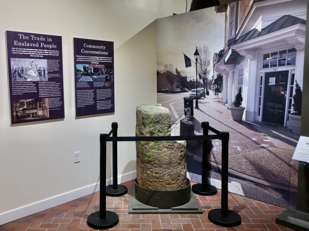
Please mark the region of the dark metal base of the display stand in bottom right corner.
<svg viewBox="0 0 309 231"><path fill-rule="evenodd" d="M309 230L309 214L287 209L276 218L276 224L299 231Z"/></svg>

